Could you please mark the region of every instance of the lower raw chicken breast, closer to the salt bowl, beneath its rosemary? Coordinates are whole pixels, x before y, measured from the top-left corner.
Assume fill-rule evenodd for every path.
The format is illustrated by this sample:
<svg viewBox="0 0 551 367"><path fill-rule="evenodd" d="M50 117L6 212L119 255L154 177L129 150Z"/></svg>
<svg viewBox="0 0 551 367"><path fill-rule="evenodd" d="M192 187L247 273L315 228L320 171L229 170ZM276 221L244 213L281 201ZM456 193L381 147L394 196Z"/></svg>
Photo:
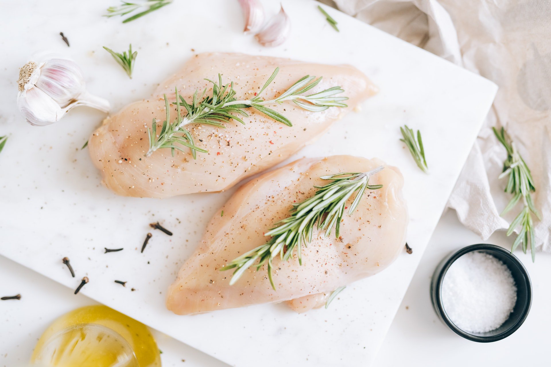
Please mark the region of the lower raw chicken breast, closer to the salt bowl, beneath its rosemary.
<svg viewBox="0 0 551 367"><path fill-rule="evenodd" d="M224 216L218 211L210 220L197 250L169 288L168 309L185 315L302 298L290 306L305 311L325 302L320 293L385 269L403 251L408 224L403 177L390 166L370 178L370 185L383 187L366 190L353 215L343 216L338 239L334 231L325 238L314 229L314 240L302 248L302 265L296 254L288 262L274 258L276 291L266 265L258 271L250 267L233 286L229 285L233 270L220 271L237 256L266 243L263 233L289 216L293 202L314 195L314 185L329 183L320 176L368 172L380 165L385 163L353 156L303 158L252 179L222 207Z"/></svg>

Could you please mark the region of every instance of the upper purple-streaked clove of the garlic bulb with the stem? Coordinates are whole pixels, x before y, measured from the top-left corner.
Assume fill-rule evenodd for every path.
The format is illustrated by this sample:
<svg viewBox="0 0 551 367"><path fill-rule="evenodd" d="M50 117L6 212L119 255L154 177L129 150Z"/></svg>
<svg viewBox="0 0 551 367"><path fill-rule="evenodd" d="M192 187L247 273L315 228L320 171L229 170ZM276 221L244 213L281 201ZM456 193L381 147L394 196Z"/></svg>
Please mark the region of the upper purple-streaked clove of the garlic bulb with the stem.
<svg viewBox="0 0 551 367"><path fill-rule="evenodd" d="M69 59L52 58L40 67L35 85L61 107L68 106L75 96L85 91L84 75L77 63Z"/></svg>

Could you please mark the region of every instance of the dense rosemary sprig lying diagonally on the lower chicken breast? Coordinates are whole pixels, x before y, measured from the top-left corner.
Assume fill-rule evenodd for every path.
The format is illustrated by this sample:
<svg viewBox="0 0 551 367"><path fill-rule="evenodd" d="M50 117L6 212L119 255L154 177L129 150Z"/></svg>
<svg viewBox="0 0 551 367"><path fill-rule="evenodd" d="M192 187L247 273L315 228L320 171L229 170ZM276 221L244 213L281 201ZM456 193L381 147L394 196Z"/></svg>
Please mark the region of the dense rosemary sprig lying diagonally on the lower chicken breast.
<svg viewBox="0 0 551 367"><path fill-rule="evenodd" d="M333 182L324 186L315 186L318 190L314 196L293 204L293 209L291 209L293 213L277 222L276 227L264 234L271 237L268 242L239 256L220 269L235 268L230 286L239 280L256 260L260 260L256 265L256 270L260 269L262 265L268 264L268 278L272 288L276 289L272 279L273 258L279 254L282 261L288 261L296 249L299 264L302 265L302 245L306 246L312 242L315 227L320 231L325 231L325 237L331 234L331 229L334 227L335 236L338 238L347 200L357 191L348 209L350 216L360 203L365 189L376 190L382 187L382 185L368 184L369 178L382 169L381 166L364 173L343 172L320 177L322 180L333 180Z"/></svg>

